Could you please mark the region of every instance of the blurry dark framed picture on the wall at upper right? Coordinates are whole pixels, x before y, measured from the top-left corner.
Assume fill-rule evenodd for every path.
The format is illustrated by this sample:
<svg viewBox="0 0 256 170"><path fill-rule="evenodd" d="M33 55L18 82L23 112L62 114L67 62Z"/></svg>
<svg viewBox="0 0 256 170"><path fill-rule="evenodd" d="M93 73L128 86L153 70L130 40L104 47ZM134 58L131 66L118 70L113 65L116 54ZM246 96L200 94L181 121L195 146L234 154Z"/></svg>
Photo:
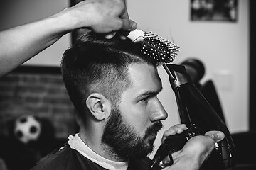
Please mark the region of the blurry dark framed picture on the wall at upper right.
<svg viewBox="0 0 256 170"><path fill-rule="evenodd" d="M191 0L191 21L238 20L238 0Z"/></svg>

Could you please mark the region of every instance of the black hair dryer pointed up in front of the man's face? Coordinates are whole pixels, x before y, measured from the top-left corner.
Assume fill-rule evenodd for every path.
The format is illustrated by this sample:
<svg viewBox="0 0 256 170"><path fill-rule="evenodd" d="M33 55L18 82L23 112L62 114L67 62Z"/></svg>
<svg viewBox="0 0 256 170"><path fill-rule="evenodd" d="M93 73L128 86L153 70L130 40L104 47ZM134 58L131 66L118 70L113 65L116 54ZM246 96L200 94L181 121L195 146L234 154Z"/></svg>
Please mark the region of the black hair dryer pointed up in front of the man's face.
<svg viewBox="0 0 256 170"><path fill-rule="evenodd" d="M169 81L176 96L181 123L186 124L188 129L164 140L154 155L150 168L163 168L173 164L173 162L169 164L160 164L160 162L171 153L182 149L191 137L204 135L209 130L220 130L225 134L225 138L216 142L213 152L203 162L201 169L233 169L235 167L235 145L223 120L193 84L185 67L176 64L163 66L169 74Z"/></svg>

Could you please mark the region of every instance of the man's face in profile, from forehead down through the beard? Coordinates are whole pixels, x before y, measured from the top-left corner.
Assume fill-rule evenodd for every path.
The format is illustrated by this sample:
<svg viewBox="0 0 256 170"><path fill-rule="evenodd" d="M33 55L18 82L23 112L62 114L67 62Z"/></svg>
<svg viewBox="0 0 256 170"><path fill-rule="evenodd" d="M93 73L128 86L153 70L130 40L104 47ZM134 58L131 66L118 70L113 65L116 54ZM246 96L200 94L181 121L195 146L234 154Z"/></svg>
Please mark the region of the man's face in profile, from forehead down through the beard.
<svg viewBox="0 0 256 170"><path fill-rule="evenodd" d="M133 64L129 74L132 87L122 93L119 106L112 108L102 136L102 142L124 160L150 154L162 128L160 120L167 118L157 98L162 89L157 70L147 64Z"/></svg>

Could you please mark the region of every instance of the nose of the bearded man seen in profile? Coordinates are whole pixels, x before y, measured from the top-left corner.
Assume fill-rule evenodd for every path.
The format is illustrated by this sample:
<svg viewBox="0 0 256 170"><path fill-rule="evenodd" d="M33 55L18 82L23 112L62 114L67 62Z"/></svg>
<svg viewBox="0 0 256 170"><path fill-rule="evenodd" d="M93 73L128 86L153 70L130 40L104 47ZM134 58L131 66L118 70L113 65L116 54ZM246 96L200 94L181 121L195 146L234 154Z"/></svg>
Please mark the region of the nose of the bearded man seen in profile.
<svg viewBox="0 0 256 170"><path fill-rule="evenodd" d="M157 120L165 120L168 117L168 114L166 110L164 109L164 106L161 104L159 99L155 101L155 104L152 106L152 112L150 120L151 122L157 121Z"/></svg>

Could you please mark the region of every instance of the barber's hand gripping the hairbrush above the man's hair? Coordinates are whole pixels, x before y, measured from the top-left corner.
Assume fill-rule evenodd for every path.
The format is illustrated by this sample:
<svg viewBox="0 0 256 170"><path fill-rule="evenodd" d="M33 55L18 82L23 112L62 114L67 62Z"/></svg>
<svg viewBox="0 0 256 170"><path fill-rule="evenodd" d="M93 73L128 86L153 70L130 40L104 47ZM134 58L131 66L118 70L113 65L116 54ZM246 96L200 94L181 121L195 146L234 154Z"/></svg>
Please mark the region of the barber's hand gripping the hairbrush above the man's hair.
<svg viewBox="0 0 256 170"><path fill-rule="evenodd" d="M107 33L107 38L112 38L117 30L137 28L137 23L129 19L124 0L85 0L64 11L75 20L75 28Z"/></svg>

